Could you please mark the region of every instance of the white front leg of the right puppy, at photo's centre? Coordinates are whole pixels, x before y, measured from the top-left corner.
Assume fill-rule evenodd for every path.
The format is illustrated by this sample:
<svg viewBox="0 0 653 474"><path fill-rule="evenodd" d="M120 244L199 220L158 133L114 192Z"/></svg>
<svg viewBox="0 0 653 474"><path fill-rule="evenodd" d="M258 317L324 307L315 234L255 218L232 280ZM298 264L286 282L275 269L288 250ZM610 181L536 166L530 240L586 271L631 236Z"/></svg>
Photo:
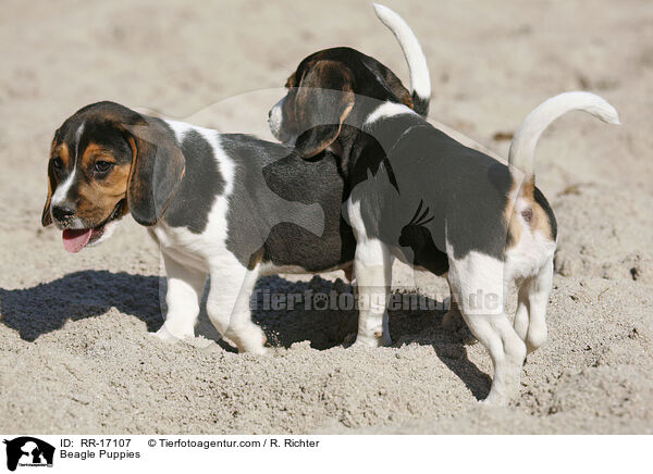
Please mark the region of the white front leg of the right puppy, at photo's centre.
<svg viewBox="0 0 653 474"><path fill-rule="evenodd" d="M387 300L392 283L392 259L378 239L356 242L354 261L358 290L357 346L390 346Z"/></svg>

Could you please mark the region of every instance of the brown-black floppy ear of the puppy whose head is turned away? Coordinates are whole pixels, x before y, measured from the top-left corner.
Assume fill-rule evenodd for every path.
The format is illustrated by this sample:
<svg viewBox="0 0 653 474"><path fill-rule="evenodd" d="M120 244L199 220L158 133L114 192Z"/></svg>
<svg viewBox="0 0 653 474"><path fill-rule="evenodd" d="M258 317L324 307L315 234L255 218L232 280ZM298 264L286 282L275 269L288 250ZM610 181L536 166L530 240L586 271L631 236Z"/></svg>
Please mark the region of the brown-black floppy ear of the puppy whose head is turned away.
<svg viewBox="0 0 653 474"><path fill-rule="evenodd" d="M303 158L311 158L329 147L340 135L343 122L355 102L354 74L336 61L309 65L295 98L299 130L295 148Z"/></svg>

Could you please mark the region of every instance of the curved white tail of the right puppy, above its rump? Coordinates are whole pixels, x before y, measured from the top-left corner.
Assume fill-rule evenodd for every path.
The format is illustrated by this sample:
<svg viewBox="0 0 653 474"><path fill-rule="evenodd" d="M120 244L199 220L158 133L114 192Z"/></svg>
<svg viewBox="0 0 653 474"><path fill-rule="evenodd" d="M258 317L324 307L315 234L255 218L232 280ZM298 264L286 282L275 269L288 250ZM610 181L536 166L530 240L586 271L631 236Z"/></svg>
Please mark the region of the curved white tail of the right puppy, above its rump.
<svg viewBox="0 0 653 474"><path fill-rule="evenodd" d="M614 107L591 92L564 92L545 100L528 114L515 134L508 152L508 165L519 170L527 180L534 177L534 155L542 132L553 121L571 112L582 110L608 124L619 124L619 115Z"/></svg>

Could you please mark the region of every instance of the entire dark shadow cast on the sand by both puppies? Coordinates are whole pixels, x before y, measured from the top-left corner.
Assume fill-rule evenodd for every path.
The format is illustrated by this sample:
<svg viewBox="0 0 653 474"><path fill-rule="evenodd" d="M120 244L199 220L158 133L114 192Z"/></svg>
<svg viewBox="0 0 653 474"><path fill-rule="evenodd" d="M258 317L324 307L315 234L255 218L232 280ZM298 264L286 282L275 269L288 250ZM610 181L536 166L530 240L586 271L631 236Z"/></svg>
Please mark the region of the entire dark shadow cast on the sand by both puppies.
<svg viewBox="0 0 653 474"><path fill-rule="evenodd" d="M112 308L133 315L156 332L165 314L165 278L109 271L81 271L24 289L0 288L0 322L26 341L60 329L66 321L106 314ZM201 304L198 335L234 350L213 328ZM393 298L402 298L394 295ZM428 308L435 301L421 297ZM356 334L358 312L353 287L315 276L309 282L289 282L280 276L261 278L252 294L252 320L271 346L289 348L309 340L313 349L343 345ZM390 312L390 333L395 347L419 344L433 347L436 356L478 399L490 390L490 377L467 357L459 335L441 328L444 310L404 309Z"/></svg>

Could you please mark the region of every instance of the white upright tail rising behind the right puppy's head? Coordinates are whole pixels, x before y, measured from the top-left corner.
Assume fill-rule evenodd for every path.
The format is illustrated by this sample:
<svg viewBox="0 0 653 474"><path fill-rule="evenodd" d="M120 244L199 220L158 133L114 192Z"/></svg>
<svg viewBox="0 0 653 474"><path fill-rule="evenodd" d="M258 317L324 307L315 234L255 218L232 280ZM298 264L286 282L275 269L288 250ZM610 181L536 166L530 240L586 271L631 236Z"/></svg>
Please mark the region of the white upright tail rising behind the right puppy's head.
<svg viewBox="0 0 653 474"><path fill-rule="evenodd" d="M419 46L415 33L404 18L387 7L379 3L373 5L377 16L390 28L404 51L410 74L410 93L412 95L414 110L426 117L429 113L429 102L431 100L431 78L429 77L427 58L421 46Z"/></svg>

